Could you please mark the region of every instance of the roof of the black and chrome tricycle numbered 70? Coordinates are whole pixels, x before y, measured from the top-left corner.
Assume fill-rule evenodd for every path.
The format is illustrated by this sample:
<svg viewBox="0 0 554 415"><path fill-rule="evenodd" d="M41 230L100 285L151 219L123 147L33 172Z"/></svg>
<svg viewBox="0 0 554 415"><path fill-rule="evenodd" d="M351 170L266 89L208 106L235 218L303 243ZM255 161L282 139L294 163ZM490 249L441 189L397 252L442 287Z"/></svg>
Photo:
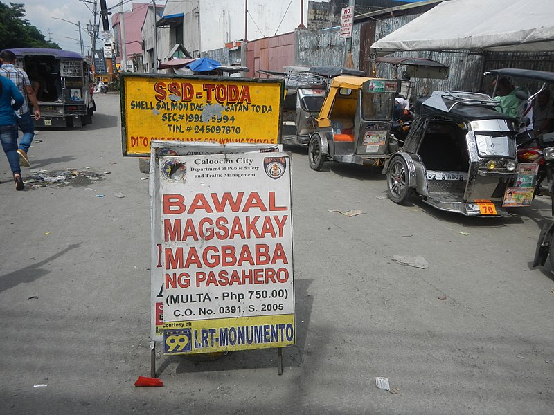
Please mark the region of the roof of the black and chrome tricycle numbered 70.
<svg viewBox="0 0 554 415"><path fill-rule="evenodd" d="M502 119L516 121L494 109L498 102L483 93L434 91L430 97L420 98L413 111L422 117L447 117L455 120Z"/></svg>

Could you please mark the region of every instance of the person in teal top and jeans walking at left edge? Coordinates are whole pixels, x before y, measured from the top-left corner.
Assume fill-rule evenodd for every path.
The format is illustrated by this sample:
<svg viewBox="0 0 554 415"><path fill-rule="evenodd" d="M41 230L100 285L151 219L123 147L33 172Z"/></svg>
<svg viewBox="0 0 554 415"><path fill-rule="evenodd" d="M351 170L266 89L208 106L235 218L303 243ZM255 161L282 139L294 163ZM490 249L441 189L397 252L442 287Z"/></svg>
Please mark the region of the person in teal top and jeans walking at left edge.
<svg viewBox="0 0 554 415"><path fill-rule="evenodd" d="M6 77L0 76L0 141L12 169L15 188L24 190L21 178L19 154L17 153L17 121L15 111L25 102L17 86Z"/></svg>

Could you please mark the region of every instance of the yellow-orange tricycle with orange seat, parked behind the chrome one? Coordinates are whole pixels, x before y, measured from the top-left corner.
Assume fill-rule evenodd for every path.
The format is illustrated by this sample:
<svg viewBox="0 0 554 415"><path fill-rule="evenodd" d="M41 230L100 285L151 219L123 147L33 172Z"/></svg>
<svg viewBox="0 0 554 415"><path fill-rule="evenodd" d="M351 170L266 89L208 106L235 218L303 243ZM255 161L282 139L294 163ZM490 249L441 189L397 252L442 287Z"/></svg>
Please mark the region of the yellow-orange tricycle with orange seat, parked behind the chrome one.
<svg viewBox="0 0 554 415"><path fill-rule="evenodd" d="M310 167L333 160L382 166L399 147L391 136L400 80L337 76L330 85L310 138Z"/></svg>

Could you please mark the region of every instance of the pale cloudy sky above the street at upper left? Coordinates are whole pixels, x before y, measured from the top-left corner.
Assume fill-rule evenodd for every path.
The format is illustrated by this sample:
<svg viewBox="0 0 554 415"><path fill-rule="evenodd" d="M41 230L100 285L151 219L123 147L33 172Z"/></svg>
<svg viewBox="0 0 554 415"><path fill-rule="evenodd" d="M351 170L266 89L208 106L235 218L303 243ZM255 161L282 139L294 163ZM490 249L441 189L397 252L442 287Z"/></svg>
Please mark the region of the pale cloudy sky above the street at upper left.
<svg viewBox="0 0 554 415"><path fill-rule="evenodd" d="M81 24L81 37L84 44L84 53L90 52L91 38L87 33L87 23L92 22L93 19L93 4L80 0L1 0L2 3L23 3L26 11L26 19L33 26L37 26L46 39L51 39L52 42L56 42L62 49L73 50L74 52L81 52L79 44L79 29L78 24ZM87 0L92 1L92 0ZM131 10L132 1L125 1L123 5L123 11ZM134 0L135 3L150 3L150 0L141 1ZM120 0L106 0L107 8L116 6L111 11L119 12L120 7L118 4ZM163 6L165 1L157 1L157 4ZM89 8L87 8L89 6ZM98 1L98 11L100 10L100 1ZM59 19L65 19L71 21L56 20L53 17ZM97 17L98 19L98 17ZM111 16L110 16L111 22ZM98 21L97 21L98 23ZM111 24L110 24L111 26ZM100 30L102 24L100 24ZM72 39L68 39L72 38ZM102 41L97 41L98 46L102 46Z"/></svg>

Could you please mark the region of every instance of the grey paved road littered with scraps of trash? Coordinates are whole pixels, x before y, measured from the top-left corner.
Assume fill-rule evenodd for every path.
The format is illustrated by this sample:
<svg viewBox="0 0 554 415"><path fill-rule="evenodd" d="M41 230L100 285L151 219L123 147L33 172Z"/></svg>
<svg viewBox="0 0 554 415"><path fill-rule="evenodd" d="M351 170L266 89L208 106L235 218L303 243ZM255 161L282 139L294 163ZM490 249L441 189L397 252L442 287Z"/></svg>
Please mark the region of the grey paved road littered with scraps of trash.
<svg viewBox="0 0 554 415"><path fill-rule="evenodd" d="M118 96L97 104L92 125L40 131L30 151L24 178L77 169L69 184L16 192L0 156L1 414L554 412L554 280L530 269L548 200L490 220L395 205L379 172L313 172L294 149L283 376L274 350L158 356L165 386L134 387L150 369L148 180L121 156Z"/></svg>

